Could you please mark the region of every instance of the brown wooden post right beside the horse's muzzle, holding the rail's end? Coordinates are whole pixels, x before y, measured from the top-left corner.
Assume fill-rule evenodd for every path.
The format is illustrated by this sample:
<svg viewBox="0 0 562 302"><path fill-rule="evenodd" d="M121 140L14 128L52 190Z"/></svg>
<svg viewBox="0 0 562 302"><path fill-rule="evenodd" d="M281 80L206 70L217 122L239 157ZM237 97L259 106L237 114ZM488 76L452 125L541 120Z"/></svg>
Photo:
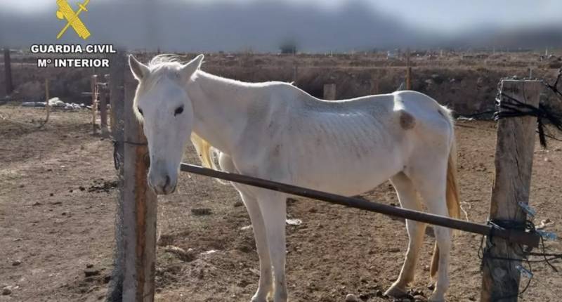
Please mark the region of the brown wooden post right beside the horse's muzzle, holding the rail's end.
<svg viewBox="0 0 562 302"><path fill-rule="evenodd" d="M137 82L125 74L123 301L152 302L155 294L157 197L148 188L148 146L133 113Z"/></svg>

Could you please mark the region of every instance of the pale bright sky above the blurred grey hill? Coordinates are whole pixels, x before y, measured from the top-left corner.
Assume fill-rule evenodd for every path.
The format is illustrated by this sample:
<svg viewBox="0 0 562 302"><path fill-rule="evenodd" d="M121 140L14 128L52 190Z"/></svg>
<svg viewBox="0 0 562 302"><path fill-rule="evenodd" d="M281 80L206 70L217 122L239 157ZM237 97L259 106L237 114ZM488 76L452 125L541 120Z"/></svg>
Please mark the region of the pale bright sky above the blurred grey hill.
<svg viewBox="0 0 562 302"><path fill-rule="evenodd" d="M70 4L76 0L68 0ZM96 1L91 0L89 6ZM168 0L139 0L168 1ZM217 4L221 2L251 4L253 1L264 0L185 0L200 4ZM282 1L282 0L276 0ZM299 5L308 4L322 10L337 10L350 0L284 0ZM561 0L351 0L362 1L373 9L379 10L400 22L414 25L421 29L429 29L445 34L473 30L475 27L496 25L504 28L528 27L560 23L562 11ZM55 8L55 0L1 0L0 10L13 13L32 14L50 13ZM53 11L54 14L54 11Z"/></svg>

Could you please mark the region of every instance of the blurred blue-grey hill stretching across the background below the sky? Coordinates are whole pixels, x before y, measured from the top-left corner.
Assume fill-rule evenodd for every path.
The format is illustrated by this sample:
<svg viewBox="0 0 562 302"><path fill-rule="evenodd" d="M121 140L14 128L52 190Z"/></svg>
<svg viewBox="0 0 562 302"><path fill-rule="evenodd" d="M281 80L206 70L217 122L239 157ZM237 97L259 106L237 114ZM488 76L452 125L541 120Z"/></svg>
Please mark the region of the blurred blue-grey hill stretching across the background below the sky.
<svg viewBox="0 0 562 302"><path fill-rule="evenodd" d="M287 39L310 52L412 48L562 45L560 31L470 32L447 38L406 25L404 20L376 11L360 0L338 11L280 1L242 4L194 4L178 0L92 1L81 20L92 32L88 43L165 51L277 51ZM56 41L65 24L53 11L13 15L0 11L0 44L27 48L39 43L81 43L73 33ZM72 30L72 29L70 29ZM496 45L497 44L497 45ZM500 45L502 44L502 45Z"/></svg>

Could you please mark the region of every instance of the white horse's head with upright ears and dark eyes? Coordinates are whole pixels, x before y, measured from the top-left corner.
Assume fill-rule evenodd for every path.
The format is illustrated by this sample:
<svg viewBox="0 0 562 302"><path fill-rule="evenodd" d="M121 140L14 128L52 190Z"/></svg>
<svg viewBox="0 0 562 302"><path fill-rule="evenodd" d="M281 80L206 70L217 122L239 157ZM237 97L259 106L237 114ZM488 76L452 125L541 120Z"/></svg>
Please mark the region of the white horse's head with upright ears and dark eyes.
<svg viewBox="0 0 562 302"><path fill-rule="evenodd" d="M165 58L157 57L144 65L129 56L131 72L138 80L133 110L143 121L150 152L148 184L157 194L176 190L193 122L193 107L185 86L199 69L203 55L185 65Z"/></svg>

